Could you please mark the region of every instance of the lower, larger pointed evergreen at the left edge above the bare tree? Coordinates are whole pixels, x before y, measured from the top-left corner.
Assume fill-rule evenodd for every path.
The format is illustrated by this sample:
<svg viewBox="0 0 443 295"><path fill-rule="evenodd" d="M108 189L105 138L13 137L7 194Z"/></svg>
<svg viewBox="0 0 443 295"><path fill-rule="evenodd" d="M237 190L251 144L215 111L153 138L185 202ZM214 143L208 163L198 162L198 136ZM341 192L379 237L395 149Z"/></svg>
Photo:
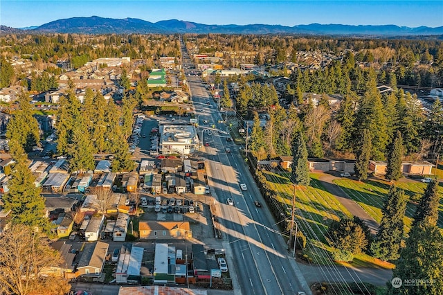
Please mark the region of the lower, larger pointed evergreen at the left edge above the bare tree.
<svg viewBox="0 0 443 295"><path fill-rule="evenodd" d="M15 154L21 154L15 159L17 164L12 169L11 179L8 182L9 191L3 196L6 211L11 211L12 223L26 226L37 226L48 232L48 219L44 216L44 197L40 195L42 188L34 184L35 177L28 168L28 159L24 150L17 146Z"/></svg>

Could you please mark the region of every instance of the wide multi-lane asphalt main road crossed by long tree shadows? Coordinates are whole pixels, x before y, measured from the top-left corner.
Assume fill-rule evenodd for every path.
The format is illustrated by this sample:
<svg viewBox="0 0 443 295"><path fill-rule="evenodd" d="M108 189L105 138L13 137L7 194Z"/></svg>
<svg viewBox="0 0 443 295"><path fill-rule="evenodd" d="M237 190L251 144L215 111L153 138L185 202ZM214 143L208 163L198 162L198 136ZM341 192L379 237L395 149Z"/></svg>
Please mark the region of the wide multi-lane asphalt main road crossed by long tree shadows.
<svg viewBox="0 0 443 295"><path fill-rule="evenodd" d="M204 147L208 159L208 183L211 193L219 202L217 215L221 232L230 248L226 249L228 267L235 267L239 291L242 294L297 294L298 291L305 291L308 294L308 285L301 272L295 271L298 266L289 258L284 239L237 146L232 141L226 141L229 135L224 133L224 123L219 123L221 115L216 111L217 105L209 98L199 78L188 79L192 101L195 108L200 109L197 112L199 125L204 125L204 120L209 121L200 127L210 130L210 134L204 132L204 142L209 143ZM225 151L226 147L230 148L229 153ZM246 184L248 189L241 190L241 183ZM227 198L232 198L235 205L226 204ZM254 199L261 202L263 207L255 207ZM231 272L231 275L234 273Z"/></svg>

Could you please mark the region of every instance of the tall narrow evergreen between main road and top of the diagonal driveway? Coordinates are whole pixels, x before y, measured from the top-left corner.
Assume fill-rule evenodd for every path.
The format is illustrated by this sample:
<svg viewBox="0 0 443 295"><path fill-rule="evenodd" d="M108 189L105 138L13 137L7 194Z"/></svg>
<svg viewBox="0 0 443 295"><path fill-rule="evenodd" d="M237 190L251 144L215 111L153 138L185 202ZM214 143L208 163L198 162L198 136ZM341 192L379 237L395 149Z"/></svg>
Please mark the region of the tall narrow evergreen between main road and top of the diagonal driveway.
<svg viewBox="0 0 443 295"><path fill-rule="evenodd" d="M302 186L309 186L309 165L307 162L307 149L302 132L298 132L292 141L292 179Z"/></svg>

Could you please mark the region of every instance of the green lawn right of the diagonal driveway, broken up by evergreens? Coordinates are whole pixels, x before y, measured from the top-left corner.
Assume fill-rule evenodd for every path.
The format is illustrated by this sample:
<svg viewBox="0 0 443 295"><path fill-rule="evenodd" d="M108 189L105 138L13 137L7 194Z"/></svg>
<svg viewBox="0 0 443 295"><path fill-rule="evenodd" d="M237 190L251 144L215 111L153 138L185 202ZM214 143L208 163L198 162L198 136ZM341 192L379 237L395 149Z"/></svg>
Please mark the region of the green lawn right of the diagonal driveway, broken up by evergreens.
<svg viewBox="0 0 443 295"><path fill-rule="evenodd" d="M357 202L363 210L371 215L377 222L381 221L381 208L386 195L389 192L390 184L387 181L368 179L365 181L355 181L352 179L336 179L334 184L340 186L348 196ZM401 179L397 181L397 187L404 190L406 195L413 196L416 194L423 195L426 184L419 181L406 181ZM441 190L441 189L440 189ZM410 230L413 215L415 213L416 204L408 203L406 206L406 216L404 223L406 232ZM438 226L443 228L443 199L440 198L440 217Z"/></svg>

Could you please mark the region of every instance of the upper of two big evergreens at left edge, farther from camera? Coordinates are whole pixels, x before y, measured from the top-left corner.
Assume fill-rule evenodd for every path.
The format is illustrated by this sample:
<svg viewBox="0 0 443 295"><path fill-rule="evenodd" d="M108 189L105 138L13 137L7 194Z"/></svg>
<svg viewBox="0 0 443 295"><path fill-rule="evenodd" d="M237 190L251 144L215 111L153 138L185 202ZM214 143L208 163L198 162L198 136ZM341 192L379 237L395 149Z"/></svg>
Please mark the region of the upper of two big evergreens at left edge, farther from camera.
<svg viewBox="0 0 443 295"><path fill-rule="evenodd" d="M40 141L39 125L33 117L33 109L28 95L20 93L17 101L19 102L19 109L15 111L8 123L6 138L10 141L17 141L26 152L30 152L33 146Z"/></svg>

